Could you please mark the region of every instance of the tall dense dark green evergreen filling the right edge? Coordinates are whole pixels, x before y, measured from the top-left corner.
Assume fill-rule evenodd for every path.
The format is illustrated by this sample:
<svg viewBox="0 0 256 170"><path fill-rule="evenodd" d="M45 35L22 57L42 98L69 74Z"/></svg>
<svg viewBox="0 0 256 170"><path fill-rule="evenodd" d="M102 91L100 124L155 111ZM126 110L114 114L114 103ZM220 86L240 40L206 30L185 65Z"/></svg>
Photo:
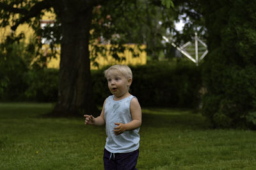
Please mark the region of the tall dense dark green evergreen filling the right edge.
<svg viewBox="0 0 256 170"><path fill-rule="evenodd" d="M209 54L203 112L215 127L255 127L256 1L202 1Z"/></svg>

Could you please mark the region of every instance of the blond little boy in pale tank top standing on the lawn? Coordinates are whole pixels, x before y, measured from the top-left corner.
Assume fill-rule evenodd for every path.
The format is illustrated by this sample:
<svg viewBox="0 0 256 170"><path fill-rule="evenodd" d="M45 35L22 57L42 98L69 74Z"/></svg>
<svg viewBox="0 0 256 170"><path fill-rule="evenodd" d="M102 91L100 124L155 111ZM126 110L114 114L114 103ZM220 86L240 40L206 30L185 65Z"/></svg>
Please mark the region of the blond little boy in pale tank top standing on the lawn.
<svg viewBox="0 0 256 170"><path fill-rule="evenodd" d="M141 126L141 107L129 93L132 71L126 65L114 65L104 71L112 93L106 98L100 116L84 115L86 125L106 124L104 169L136 169Z"/></svg>

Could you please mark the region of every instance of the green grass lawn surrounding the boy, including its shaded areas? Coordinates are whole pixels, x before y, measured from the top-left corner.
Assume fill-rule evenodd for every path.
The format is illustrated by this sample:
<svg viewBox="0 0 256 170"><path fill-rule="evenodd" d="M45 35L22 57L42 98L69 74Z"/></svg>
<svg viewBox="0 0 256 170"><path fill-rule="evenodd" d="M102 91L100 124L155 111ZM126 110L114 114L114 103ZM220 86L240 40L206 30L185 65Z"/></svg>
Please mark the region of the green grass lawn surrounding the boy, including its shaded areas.
<svg viewBox="0 0 256 170"><path fill-rule="evenodd" d="M103 169L104 127L47 118L51 104L0 104L0 169ZM143 109L138 169L256 169L256 132L212 129L184 109Z"/></svg>

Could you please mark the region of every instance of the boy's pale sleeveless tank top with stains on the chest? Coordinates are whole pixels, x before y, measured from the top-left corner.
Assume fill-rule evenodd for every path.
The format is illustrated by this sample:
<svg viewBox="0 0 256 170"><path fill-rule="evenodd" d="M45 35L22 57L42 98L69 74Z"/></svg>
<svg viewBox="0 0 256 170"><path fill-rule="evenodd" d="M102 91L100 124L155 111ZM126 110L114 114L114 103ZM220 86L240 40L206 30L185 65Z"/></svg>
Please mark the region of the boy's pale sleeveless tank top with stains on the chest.
<svg viewBox="0 0 256 170"><path fill-rule="evenodd" d="M127 130L120 135L115 135L113 130L115 123L129 123L132 121L130 103L134 96L130 95L119 101L113 100L114 95L109 96L104 106L104 118L106 121L106 145L105 148L111 153L129 153L138 150L140 146L140 128Z"/></svg>

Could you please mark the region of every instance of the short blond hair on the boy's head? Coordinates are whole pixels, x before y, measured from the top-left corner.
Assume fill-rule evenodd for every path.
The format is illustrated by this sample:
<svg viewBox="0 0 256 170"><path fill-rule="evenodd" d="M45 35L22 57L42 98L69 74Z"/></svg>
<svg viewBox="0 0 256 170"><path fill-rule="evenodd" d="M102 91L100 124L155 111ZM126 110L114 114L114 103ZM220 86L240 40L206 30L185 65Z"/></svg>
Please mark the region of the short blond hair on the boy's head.
<svg viewBox="0 0 256 170"><path fill-rule="evenodd" d="M107 74L109 71L116 71L118 73L121 73L126 77L127 79L131 78L132 79L132 70L129 68L127 65L113 65L110 66L107 70L104 71L104 75L107 78Z"/></svg>

